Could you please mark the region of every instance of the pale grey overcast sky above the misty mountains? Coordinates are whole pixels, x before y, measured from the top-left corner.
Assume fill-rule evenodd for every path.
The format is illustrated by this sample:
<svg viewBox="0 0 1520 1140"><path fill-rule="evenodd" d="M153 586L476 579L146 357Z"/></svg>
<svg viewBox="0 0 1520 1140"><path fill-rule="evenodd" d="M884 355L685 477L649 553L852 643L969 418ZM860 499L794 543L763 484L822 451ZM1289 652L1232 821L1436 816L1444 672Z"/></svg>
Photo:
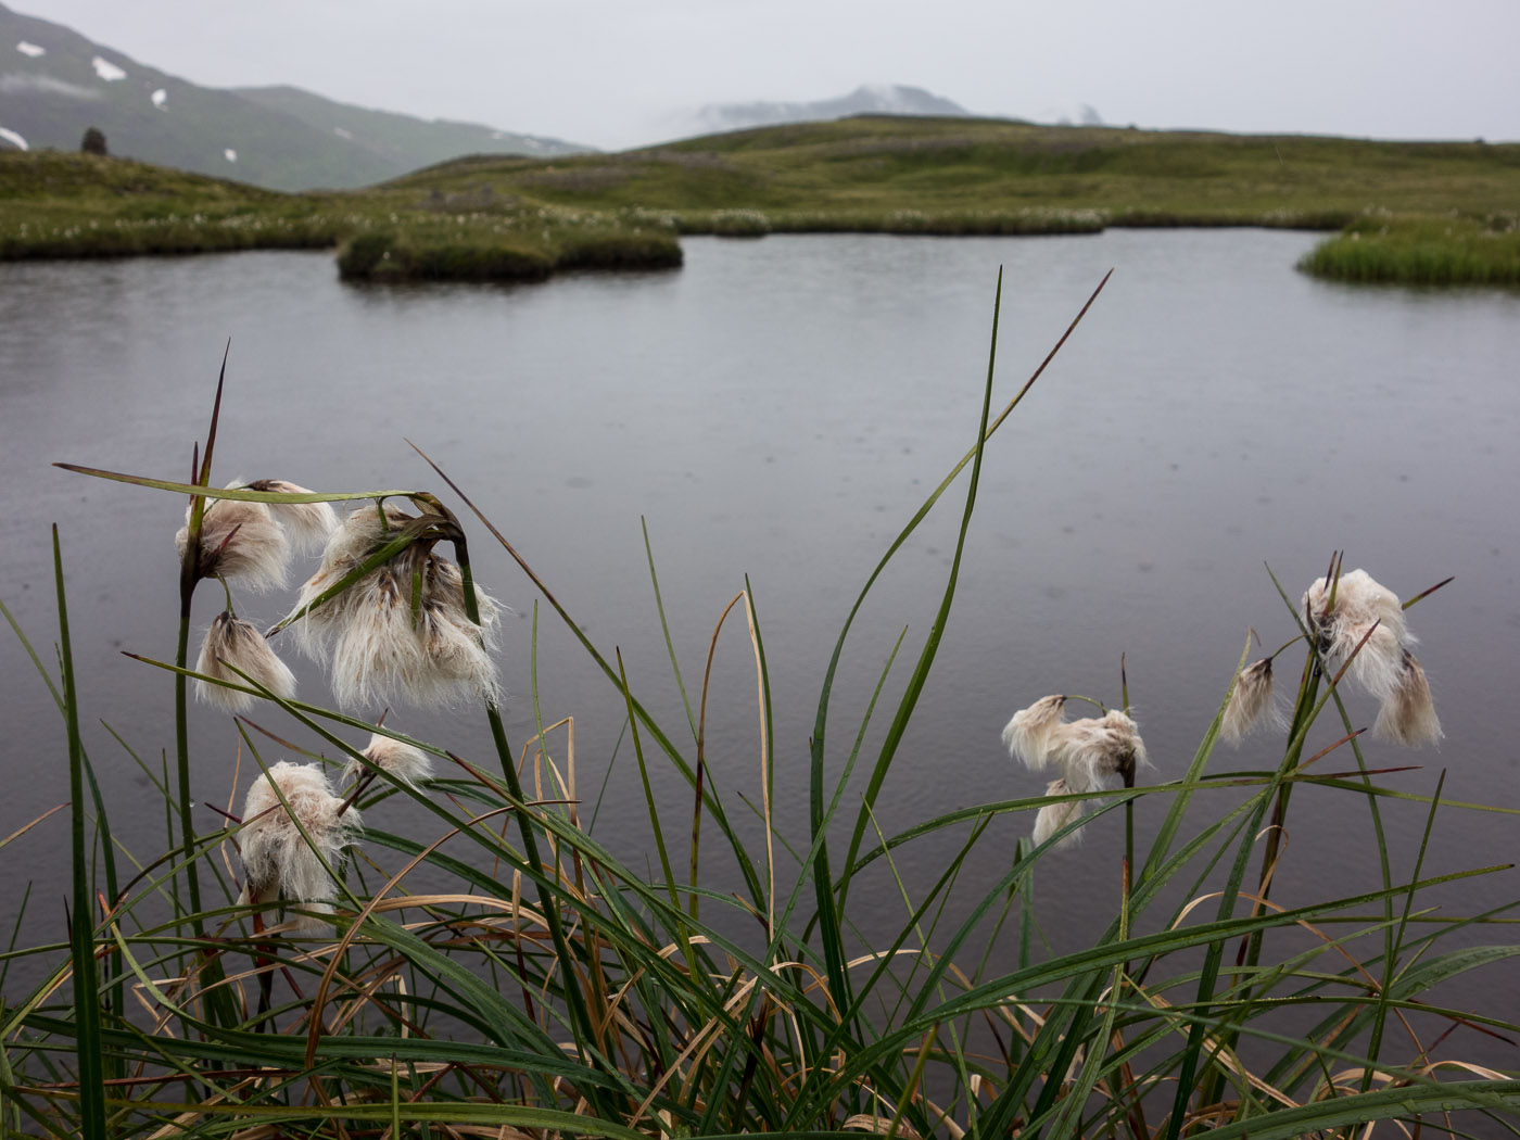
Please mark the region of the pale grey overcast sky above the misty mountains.
<svg viewBox="0 0 1520 1140"><path fill-rule="evenodd" d="M976 114L1520 140L1520 0L6 0L210 87L599 147L912 84Z"/></svg>

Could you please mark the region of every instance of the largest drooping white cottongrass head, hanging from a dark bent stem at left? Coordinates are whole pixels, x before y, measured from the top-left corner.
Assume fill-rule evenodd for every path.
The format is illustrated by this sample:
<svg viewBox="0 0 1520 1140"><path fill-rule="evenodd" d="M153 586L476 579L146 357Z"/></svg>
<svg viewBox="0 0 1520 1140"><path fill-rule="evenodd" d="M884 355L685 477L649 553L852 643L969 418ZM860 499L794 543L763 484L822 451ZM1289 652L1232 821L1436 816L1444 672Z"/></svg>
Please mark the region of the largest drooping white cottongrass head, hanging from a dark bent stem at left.
<svg viewBox="0 0 1520 1140"><path fill-rule="evenodd" d="M333 532L316 573L301 588L293 629L301 648L328 664L345 707L389 701L451 705L500 702L491 651L500 606L474 588L480 623L465 611L464 575L420 541L365 575L337 597L312 603L351 573L412 517L360 508ZM413 594L415 591L415 594Z"/></svg>

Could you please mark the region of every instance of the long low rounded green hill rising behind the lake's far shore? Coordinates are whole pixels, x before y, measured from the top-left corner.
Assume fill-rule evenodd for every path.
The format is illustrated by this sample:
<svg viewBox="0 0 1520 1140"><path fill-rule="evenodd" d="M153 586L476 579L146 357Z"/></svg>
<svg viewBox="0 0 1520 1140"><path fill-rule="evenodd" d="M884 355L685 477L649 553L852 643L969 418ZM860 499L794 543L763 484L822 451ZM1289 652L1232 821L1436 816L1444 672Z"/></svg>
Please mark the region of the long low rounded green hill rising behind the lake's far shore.
<svg viewBox="0 0 1520 1140"><path fill-rule="evenodd" d="M775 230L990 231L1020 211L1102 225L1341 226L1368 210L1520 208L1520 146L863 116L523 164L473 157L392 185L593 208L763 211ZM892 214L920 211L923 219Z"/></svg>

